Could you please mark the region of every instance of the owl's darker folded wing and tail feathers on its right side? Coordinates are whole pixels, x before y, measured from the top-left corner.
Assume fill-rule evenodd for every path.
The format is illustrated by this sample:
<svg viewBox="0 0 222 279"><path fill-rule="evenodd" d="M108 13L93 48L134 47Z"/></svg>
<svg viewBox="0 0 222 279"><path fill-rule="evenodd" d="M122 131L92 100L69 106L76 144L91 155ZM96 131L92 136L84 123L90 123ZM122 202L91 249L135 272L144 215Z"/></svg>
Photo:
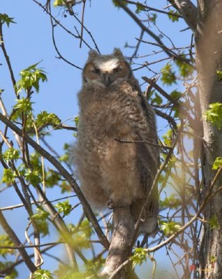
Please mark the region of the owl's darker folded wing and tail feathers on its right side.
<svg viewBox="0 0 222 279"><path fill-rule="evenodd" d="M133 89L136 89L140 92L140 88L138 88L138 86L135 86ZM145 122L147 125L145 131L140 128L137 130L138 140L140 141L137 144L137 153L141 171L141 186L145 193L149 195L152 183L160 164L160 149L158 146L154 146L155 144L158 145L158 137L156 133L156 116L154 110L152 110L151 106L147 103L147 100L145 100L145 98L142 96L142 93L139 93L139 96L142 114L145 117ZM133 202L132 209L135 218L138 218L138 214L140 213L145 201L146 197ZM157 216L158 188L155 186L149 197L147 208L145 209L145 212L142 216L143 222L140 226L140 232L155 236L158 229Z"/></svg>

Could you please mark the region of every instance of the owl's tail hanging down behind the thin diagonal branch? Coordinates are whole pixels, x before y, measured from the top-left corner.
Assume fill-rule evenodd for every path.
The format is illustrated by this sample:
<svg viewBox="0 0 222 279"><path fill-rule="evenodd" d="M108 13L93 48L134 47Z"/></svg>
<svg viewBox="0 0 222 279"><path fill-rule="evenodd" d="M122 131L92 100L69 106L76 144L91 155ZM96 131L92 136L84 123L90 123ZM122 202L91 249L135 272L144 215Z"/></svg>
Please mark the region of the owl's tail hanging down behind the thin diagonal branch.
<svg viewBox="0 0 222 279"><path fill-rule="evenodd" d="M140 233L147 234L148 236L155 237L158 232L158 195L151 194L148 205L142 212L140 222ZM137 199L133 202L131 209L135 222L138 220L142 206L145 204L146 199Z"/></svg>

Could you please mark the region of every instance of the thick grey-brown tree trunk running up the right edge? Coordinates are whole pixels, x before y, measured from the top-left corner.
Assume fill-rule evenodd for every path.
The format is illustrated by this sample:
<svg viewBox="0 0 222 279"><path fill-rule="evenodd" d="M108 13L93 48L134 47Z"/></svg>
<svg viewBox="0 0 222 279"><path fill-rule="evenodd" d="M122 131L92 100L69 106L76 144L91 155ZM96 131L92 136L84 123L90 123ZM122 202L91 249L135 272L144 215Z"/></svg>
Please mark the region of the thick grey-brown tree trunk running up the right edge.
<svg viewBox="0 0 222 279"><path fill-rule="evenodd" d="M216 71L222 70L222 3L216 0L198 1L198 28L195 36L198 90L201 113L210 103L222 103L222 80ZM222 120L222 119L221 119ZM215 171L212 165L216 157L222 156L222 131L203 119L202 195L205 195ZM222 186L222 175L217 179L213 192ZM222 193L217 193L205 207L205 220L213 216L218 228L211 229L204 223L200 243L200 278L222 278Z"/></svg>

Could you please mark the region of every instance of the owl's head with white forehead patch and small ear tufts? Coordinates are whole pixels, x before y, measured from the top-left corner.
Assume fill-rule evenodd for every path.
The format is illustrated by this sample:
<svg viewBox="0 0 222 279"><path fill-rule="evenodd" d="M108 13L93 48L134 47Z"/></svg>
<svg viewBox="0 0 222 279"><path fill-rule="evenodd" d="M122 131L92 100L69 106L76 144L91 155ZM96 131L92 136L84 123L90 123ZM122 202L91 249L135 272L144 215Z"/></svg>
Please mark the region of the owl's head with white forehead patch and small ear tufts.
<svg viewBox="0 0 222 279"><path fill-rule="evenodd" d="M119 78L131 77L133 77L131 67L119 49L114 49L110 55L101 55L91 50L82 73L84 83L94 82L107 87Z"/></svg>

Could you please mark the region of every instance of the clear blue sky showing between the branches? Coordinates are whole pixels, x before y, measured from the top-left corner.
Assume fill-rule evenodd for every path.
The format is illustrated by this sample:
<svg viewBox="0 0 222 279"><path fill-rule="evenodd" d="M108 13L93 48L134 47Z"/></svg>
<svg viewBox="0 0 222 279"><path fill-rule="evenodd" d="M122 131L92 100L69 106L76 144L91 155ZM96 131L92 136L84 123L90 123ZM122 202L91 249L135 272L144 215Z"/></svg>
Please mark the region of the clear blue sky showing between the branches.
<svg viewBox="0 0 222 279"><path fill-rule="evenodd" d="M45 4L45 1L41 3ZM155 4L155 8L163 8L167 5L167 1L150 1L151 4ZM52 8L54 16L64 24L68 29L75 33L75 28L80 31L80 24L78 24L73 17L69 15L67 17L63 16L64 10L62 8ZM80 18L82 13L82 6L78 5L74 9L77 17ZM70 119L71 117L78 114L77 105L77 92L81 87L81 71L69 66L64 61L56 59L57 53L54 50L52 44L52 27L50 25L50 18L43 13L43 10L34 3L32 0L1 0L0 13L6 13L10 17L15 17L15 22L17 24L11 24L10 28L4 26L3 35L4 42L6 44L6 49L8 55L10 56L10 61L13 66L15 73L15 79L19 80L20 70L27 68L31 64L38 61L40 62L40 67L42 67L47 73L48 82L40 84L40 92L35 94L33 101L34 113L38 114L43 110L47 112L54 112L59 116L62 121ZM156 23L161 31L166 33L168 36L176 39L177 47L188 45L189 42L189 32L179 32L180 29L186 28L184 22L179 22L179 24L173 24L169 22L166 15L161 15L158 17ZM125 48L124 45L135 45L135 38L139 38L140 29L131 20L124 11L119 10L114 7L112 1L104 0L91 0L91 5L87 1L84 24L87 26L89 31L91 31L98 47L103 54L110 54L114 47L119 47L124 52L126 56L130 56L133 53L133 49ZM147 22L145 22L147 24ZM158 33L155 27L151 27L151 30ZM82 48L79 48L79 40L76 40L72 36L68 36L66 32L61 30L61 28L56 27L55 38L57 40L57 46L61 54L66 57L69 61L77 64L82 68L85 61L87 60L87 53L89 48L84 44ZM94 48L94 43L91 41L87 33L84 31L84 39L87 43ZM152 41L152 39L145 35L145 40ZM167 38L163 38L163 41L170 46L170 41ZM153 47L151 45L143 44L138 52L138 54L152 54ZM164 55L158 56L148 56L145 59L141 59L140 62L155 61ZM3 59L3 54L0 52L0 89L4 89L2 94L3 102L6 104L8 112L10 112L11 107L15 105L15 94L13 93L13 87L10 82L10 75L6 69L6 62ZM164 66L164 63L161 64ZM160 71L161 65L153 66L153 69ZM132 66L137 68L138 66ZM146 68L142 70L135 71L135 77L137 77L140 82L141 76L147 75L151 77L153 74L149 72ZM144 87L143 87L144 88ZM181 89L181 85L175 85L172 90ZM171 90L171 89L170 89ZM73 125L71 120L66 122L67 124ZM2 129L0 123L0 129ZM163 121L158 121L158 130L165 130L165 123ZM64 143L73 142L73 133L71 131L53 131L49 138L50 144L59 153L62 153ZM2 172L2 169L0 169ZM55 190L49 190L48 195L50 199L60 196ZM20 203L20 200L13 195L13 193L8 190L6 193L1 193L0 206L9 206L12 204ZM27 224L27 216L24 216L21 209L17 209L16 216L15 211L7 212L6 216L10 218L10 224L14 228L17 226L23 226ZM71 216L71 219L74 218ZM73 221L73 219L72 219ZM51 232L51 236L54 231ZM24 239L24 235L21 230L19 235L21 239ZM57 250L58 252L58 250ZM157 253L156 259L158 260L158 269L161 269L161 276L166 276L168 272L171 272L169 268L170 262L165 256L165 250ZM54 263L54 262L53 262ZM52 264L44 266L45 269L50 269ZM149 269L151 267L150 264ZM147 269L146 269L147 270ZM20 279L27 278L28 273L26 271L20 271ZM145 278L141 275L141 279ZM166 278L166 277L165 277ZM171 277L169 277L171 278Z"/></svg>

